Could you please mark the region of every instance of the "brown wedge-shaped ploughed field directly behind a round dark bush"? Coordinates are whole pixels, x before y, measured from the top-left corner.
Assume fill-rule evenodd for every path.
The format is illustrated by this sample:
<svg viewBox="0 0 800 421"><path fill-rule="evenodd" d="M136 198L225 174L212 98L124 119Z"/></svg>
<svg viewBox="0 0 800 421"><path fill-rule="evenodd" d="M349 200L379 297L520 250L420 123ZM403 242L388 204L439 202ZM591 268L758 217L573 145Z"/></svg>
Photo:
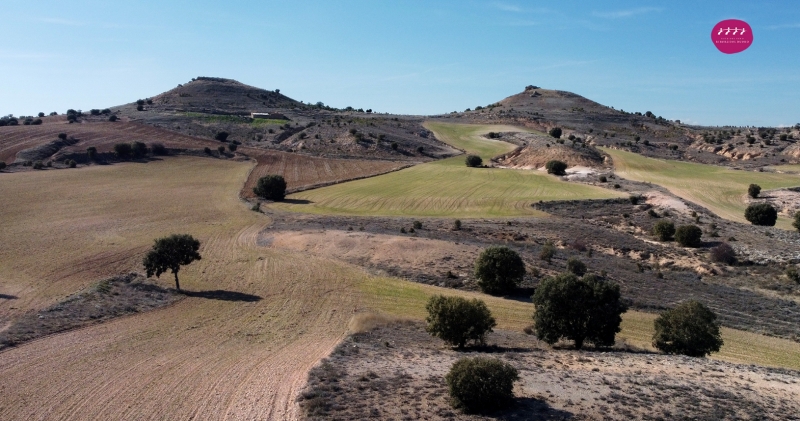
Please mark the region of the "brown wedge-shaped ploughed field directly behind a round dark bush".
<svg viewBox="0 0 800 421"><path fill-rule="evenodd" d="M255 148L240 148L240 151L257 162L242 189L244 197L255 197L253 187L267 174L282 175L287 190L292 192L384 174L408 166L395 161L318 158Z"/></svg>

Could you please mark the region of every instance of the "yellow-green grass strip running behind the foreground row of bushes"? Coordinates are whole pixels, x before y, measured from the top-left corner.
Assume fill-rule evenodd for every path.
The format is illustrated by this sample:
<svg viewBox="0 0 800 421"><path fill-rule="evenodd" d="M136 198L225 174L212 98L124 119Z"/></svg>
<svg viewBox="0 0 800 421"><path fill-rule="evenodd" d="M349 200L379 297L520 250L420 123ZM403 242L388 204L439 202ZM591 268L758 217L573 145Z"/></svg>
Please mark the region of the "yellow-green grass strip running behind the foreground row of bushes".
<svg viewBox="0 0 800 421"><path fill-rule="evenodd" d="M533 324L534 307L530 303L490 297L434 286L410 283L395 279L369 279L359 284L366 294L365 303L377 311L418 320L425 318L425 303L434 294L458 295L479 298L497 319L498 328L522 330ZM622 331L618 340L642 349L654 350L653 320L656 315L629 311L623 315ZM735 329L722 329L725 345L711 358L740 364L759 364L800 370L800 344L786 339L771 338Z"/></svg>

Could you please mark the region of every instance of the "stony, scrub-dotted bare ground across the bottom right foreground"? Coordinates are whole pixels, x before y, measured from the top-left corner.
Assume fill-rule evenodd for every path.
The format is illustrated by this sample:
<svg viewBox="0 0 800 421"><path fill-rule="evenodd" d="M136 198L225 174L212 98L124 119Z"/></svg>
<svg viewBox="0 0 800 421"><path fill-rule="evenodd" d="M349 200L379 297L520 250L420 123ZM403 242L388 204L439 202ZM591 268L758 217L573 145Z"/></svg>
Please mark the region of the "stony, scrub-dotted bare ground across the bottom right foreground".
<svg viewBox="0 0 800 421"><path fill-rule="evenodd" d="M403 323L356 333L312 370L300 395L313 420L740 420L796 419L800 372L630 347L581 352L499 330L489 346L457 351ZM507 410L454 410L444 376L462 357L519 370Z"/></svg>

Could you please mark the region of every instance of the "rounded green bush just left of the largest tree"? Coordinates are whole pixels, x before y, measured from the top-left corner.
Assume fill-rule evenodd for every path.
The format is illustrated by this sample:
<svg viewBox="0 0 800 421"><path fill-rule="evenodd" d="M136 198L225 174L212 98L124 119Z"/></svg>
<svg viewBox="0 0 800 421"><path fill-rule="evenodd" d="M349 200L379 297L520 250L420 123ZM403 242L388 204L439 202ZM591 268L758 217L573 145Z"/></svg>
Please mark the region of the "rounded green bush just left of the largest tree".
<svg viewBox="0 0 800 421"><path fill-rule="evenodd" d="M434 295L425 306L425 330L451 345L463 348L467 342L483 345L486 334L497 325L486 303L477 298Z"/></svg>

